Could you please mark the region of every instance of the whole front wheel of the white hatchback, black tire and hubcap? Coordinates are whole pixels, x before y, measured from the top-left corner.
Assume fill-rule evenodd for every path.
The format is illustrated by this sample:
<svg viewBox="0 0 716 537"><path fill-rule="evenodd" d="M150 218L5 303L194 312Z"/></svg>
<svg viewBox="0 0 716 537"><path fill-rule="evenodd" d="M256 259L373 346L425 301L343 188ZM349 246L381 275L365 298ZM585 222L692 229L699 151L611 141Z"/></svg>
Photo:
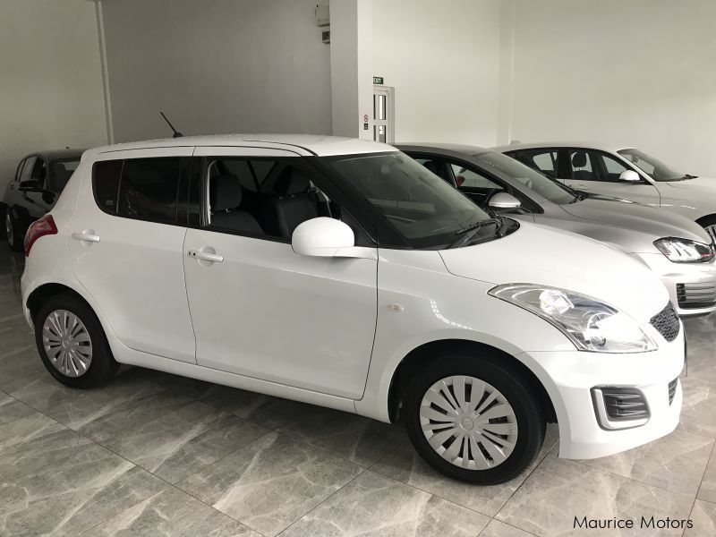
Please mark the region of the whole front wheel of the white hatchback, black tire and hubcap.
<svg viewBox="0 0 716 537"><path fill-rule="evenodd" d="M474 390L481 387L477 399ZM445 395L440 399L446 389L452 403ZM463 405L456 405L459 399ZM433 401L453 408L455 420ZM514 479L533 463L544 442L547 423L539 398L509 365L490 356L461 351L442 354L415 373L404 403L405 426L413 447L430 466L458 481L497 485ZM481 407L480 413L473 412ZM487 412L493 417L481 421L480 415ZM428 426L426 432L422 422ZM493 435L500 434L494 436L499 441L482 436L482 428L488 434L490 430Z"/></svg>

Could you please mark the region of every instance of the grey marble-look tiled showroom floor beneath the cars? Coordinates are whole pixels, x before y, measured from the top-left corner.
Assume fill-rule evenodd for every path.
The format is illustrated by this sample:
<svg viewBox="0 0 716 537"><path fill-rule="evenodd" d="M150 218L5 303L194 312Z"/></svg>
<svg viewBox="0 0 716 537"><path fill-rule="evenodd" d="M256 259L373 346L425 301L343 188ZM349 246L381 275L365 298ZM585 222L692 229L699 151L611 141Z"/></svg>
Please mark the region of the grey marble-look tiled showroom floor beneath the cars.
<svg viewBox="0 0 716 537"><path fill-rule="evenodd" d="M401 426L126 368L90 391L43 369L0 243L0 536L716 534L713 318L686 323L682 423L619 456L539 460L497 487L453 482ZM575 529L575 516L692 519Z"/></svg>

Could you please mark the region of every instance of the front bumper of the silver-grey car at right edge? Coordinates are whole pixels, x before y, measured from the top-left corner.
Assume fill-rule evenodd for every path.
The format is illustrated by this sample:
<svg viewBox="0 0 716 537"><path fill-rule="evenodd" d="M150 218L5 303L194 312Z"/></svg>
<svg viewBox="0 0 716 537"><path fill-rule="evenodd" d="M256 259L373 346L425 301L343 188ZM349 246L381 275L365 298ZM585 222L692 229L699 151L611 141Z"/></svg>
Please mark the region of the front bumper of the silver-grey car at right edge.
<svg viewBox="0 0 716 537"><path fill-rule="evenodd" d="M716 263L674 263L661 253L632 253L661 278L681 317L716 311Z"/></svg>

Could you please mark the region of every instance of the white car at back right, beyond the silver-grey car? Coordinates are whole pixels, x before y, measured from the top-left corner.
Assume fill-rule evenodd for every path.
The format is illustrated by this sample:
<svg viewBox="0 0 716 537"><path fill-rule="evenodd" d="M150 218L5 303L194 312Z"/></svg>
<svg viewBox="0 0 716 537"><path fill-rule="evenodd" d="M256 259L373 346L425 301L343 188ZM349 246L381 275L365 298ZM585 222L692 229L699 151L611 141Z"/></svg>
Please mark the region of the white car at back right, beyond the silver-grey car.
<svg viewBox="0 0 716 537"><path fill-rule="evenodd" d="M716 180L676 171L639 149L580 142L516 143L493 148L575 190L673 210L716 242Z"/></svg>

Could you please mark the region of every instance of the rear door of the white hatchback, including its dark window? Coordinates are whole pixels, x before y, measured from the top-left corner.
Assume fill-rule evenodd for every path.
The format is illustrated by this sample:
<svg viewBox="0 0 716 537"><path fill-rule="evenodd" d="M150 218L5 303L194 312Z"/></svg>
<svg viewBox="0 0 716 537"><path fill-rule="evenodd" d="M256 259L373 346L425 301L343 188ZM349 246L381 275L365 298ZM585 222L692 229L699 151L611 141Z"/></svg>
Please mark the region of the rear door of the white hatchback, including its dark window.
<svg viewBox="0 0 716 537"><path fill-rule="evenodd" d="M126 346L196 362L183 275L193 148L100 155L69 225L72 271Z"/></svg>

